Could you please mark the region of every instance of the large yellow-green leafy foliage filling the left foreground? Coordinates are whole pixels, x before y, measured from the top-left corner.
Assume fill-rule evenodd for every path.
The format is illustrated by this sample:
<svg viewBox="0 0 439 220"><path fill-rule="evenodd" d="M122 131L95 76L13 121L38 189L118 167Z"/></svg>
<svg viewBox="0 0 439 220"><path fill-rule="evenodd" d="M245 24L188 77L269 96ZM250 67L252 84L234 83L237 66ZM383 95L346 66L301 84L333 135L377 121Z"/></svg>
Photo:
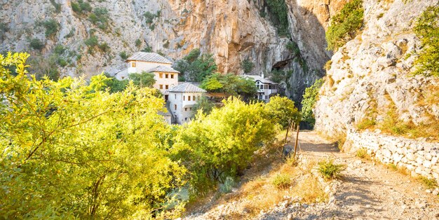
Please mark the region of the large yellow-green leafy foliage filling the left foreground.
<svg viewBox="0 0 439 220"><path fill-rule="evenodd" d="M163 99L134 85L110 94L103 75L37 81L27 57L0 56L0 216L173 218L185 169L166 150Z"/></svg>

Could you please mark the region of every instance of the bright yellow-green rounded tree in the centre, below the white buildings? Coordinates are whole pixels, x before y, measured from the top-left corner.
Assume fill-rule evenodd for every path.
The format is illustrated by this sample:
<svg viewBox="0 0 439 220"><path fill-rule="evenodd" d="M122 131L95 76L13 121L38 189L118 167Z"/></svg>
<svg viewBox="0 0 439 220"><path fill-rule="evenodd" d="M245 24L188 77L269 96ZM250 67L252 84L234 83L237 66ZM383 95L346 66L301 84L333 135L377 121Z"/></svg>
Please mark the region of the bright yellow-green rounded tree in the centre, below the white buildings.
<svg viewBox="0 0 439 220"><path fill-rule="evenodd" d="M264 104L229 98L222 108L208 116L199 113L185 124L171 151L189 170L192 189L203 192L247 167L254 152L269 144L275 133Z"/></svg>

